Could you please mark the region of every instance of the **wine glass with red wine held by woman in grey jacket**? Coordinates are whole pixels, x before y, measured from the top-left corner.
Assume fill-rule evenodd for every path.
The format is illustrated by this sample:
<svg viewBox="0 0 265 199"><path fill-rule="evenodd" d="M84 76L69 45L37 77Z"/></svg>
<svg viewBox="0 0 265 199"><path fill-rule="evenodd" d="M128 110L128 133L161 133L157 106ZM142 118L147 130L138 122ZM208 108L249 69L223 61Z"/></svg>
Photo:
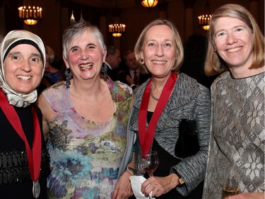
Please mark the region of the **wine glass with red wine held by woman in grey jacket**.
<svg viewBox="0 0 265 199"><path fill-rule="evenodd" d="M141 154L139 169L147 172L150 177L153 176L153 173L158 168L158 164L158 152L152 151L149 154Z"/></svg>

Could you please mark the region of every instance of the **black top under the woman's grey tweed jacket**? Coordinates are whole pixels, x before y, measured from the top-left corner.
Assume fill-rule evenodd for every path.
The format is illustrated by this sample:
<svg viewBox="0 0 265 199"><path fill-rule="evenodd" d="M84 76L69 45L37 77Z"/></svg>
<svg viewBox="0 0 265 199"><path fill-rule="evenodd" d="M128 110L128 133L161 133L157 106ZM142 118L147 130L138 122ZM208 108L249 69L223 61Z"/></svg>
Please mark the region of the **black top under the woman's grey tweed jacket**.
<svg viewBox="0 0 265 199"><path fill-rule="evenodd" d="M152 118L153 112L147 113L147 121L150 123L150 120ZM158 152L158 159L159 159L159 166L158 169L154 172L153 176L168 176L170 174L170 169L172 166L175 166L176 164L181 161L181 159L177 159L173 157L171 154L169 154L165 149L160 147L158 142L154 139L153 140L153 145L152 145L152 150ZM148 175L144 176L145 178L148 178ZM203 193L203 188L204 188L204 182L200 183L197 188L192 191L192 193L189 193L187 196L181 195L175 188L173 188L170 192L165 193L161 195L160 197L155 197L159 199L200 199L202 198L202 193Z"/></svg>

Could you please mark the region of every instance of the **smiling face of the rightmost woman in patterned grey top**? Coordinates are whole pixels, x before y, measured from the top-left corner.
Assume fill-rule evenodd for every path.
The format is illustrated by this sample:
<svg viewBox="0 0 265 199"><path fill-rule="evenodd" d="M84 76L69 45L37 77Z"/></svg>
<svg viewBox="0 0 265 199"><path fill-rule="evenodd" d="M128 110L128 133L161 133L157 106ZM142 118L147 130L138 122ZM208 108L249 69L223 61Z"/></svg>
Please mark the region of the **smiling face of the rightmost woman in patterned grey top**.
<svg viewBox="0 0 265 199"><path fill-rule="evenodd" d="M230 69L247 69L252 64L253 33L243 21L231 17L218 18L213 42L214 49Z"/></svg>

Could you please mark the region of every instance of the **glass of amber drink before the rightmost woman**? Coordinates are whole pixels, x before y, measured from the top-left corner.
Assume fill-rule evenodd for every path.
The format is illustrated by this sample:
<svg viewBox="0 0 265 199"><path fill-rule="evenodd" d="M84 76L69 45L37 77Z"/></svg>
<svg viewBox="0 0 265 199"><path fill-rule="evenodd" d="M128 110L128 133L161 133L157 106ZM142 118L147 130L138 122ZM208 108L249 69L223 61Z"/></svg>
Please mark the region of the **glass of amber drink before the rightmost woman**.
<svg viewBox="0 0 265 199"><path fill-rule="evenodd" d="M223 199L231 195L237 195L240 192L240 174L235 166L232 166L225 178L223 186Z"/></svg>

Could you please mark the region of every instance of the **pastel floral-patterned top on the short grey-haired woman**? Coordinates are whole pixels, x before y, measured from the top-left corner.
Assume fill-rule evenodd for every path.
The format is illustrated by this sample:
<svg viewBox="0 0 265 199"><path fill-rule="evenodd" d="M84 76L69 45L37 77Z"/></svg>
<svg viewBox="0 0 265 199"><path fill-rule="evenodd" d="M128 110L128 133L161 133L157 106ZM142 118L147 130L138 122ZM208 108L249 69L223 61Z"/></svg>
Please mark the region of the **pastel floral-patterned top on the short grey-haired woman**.
<svg viewBox="0 0 265 199"><path fill-rule="evenodd" d="M107 84L115 112L105 123L78 115L64 84L43 93L57 112L49 123L47 142L52 170L49 198L111 198L126 149L131 93L120 82Z"/></svg>

